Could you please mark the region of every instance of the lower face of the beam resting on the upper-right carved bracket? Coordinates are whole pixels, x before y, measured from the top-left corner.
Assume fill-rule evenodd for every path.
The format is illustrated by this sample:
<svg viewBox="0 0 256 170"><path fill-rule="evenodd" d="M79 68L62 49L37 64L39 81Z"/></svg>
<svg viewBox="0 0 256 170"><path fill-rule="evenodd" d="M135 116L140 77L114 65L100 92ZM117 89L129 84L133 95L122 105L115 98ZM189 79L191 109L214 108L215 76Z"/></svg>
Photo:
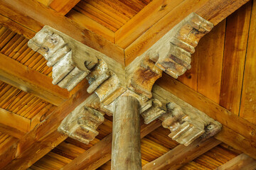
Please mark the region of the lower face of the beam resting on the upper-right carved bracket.
<svg viewBox="0 0 256 170"><path fill-rule="evenodd" d="M167 13L166 16L161 18L161 20L155 23L154 26L151 26L149 30L146 30L145 33L143 33L139 38L137 38L137 40L132 42L132 44L125 49L126 65L132 62L135 57L145 52L149 47L151 47L151 45L154 45L157 40L159 40L163 35L171 30L171 28L176 26L176 24L179 23L183 18L188 16L188 14L196 12L199 16L210 21L210 18L208 16L212 16L213 18L215 18L214 14L217 13L218 20L213 19L212 21L212 23L216 25L246 2L247 0L233 0L229 3L227 3L226 1L216 1L215 3L212 3L212 1L207 0L184 1L179 6L176 6L174 10ZM230 8L230 10L225 11L226 8ZM208 18L206 18L206 16Z"/></svg>

